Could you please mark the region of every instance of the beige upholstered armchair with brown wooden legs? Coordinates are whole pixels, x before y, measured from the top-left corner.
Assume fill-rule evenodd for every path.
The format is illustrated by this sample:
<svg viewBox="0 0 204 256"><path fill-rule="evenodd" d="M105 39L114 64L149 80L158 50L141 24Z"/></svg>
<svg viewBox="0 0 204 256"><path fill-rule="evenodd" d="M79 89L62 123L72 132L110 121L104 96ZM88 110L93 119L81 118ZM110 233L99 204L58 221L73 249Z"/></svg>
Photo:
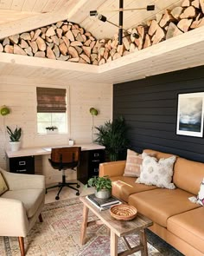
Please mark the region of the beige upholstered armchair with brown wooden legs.
<svg viewBox="0 0 204 256"><path fill-rule="evenodd" d="M13 174L0 168L9 190L0 195L0 236L18 237L21 255L24 240L35 221L41 218L45 200L43 175Z"/></svg>

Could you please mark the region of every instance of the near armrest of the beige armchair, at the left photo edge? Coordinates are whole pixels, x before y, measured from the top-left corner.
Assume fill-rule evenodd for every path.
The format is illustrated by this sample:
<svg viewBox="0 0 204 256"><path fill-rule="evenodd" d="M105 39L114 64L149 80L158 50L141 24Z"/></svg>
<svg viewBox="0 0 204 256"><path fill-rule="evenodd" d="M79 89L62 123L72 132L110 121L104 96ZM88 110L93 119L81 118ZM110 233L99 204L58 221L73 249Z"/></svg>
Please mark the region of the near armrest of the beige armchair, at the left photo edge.
<svg viewBox="0 0 204 256"><path fill-rule="evenodd" d="M26 236L29 220L20 200L0 197L0 236Z"/></svg>

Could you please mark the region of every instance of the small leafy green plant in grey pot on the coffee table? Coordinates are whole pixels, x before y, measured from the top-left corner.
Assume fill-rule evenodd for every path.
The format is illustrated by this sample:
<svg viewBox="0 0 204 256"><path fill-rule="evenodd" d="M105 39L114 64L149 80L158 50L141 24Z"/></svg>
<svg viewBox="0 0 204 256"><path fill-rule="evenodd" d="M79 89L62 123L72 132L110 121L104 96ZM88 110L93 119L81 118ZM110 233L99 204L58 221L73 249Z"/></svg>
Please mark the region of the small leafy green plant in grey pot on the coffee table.
<svg viewBox="0 0 204 256"><path fill-rule="evenodd" d="M86 187L95 187L95 196L109 198L112 195L112 181L108 176L94 176L87 181Z"/></svg>

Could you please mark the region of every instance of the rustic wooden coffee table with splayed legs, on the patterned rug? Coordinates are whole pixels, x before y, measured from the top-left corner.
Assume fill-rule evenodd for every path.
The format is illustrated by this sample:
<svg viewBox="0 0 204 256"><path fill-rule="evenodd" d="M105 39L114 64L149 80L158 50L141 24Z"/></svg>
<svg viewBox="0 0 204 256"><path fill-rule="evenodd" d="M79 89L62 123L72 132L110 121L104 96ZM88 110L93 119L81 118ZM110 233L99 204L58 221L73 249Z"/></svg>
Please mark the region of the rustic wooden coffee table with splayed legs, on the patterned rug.
<svg viewBox="0 0 204 256"><path fill-rule="evenodd" d="M115 220L110 213L110 210L100 211L95 207L92 202L86 199L86 197L80 197L80 200L84 204L83 209L83 222L81 226L81 236L80 242L82 245L86 244L86 227L93 224L105 224L111 231L111 256L116 255L130 255L141 251L141 255L148 255L147 249L147 239L145 228L151 226L152 220L137 213L137 217L134 220ZM88 211L91 210L99 220L88 221ZM140 244L138 246L132 247L129 245L128 241L125 239L125 235L130 233L138 233L140 237ZM118 237L122 237L127 250L118 254Z"/></svg>

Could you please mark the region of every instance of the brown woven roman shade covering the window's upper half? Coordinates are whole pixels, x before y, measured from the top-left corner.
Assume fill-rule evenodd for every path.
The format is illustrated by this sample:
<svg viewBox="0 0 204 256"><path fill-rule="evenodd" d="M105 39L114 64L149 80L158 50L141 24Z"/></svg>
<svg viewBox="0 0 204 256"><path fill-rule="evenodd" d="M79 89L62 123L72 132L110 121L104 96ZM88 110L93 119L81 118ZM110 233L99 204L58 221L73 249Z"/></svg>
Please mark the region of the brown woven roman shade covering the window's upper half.
<svg viewBox="0 0 204 256"><path fill-rule="evenodd" d="M66 89L37 87L37 113L65 113Z"/></svg>

